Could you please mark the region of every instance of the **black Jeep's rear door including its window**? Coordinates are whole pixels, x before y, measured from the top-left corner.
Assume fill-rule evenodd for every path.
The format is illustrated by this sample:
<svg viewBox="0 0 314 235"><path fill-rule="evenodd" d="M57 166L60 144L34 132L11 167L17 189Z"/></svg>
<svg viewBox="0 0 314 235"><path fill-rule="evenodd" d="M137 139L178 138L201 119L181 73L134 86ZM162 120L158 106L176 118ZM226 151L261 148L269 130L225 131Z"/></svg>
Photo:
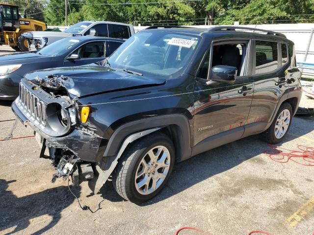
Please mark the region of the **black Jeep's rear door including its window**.
<svg viewBox="0 0 314 235"><path fill-rule="evenodd" d="M271 120L288 84L282 67L281 43L256 39L253 45L254 94L248 123L261 124L262 128Z"/></svg>

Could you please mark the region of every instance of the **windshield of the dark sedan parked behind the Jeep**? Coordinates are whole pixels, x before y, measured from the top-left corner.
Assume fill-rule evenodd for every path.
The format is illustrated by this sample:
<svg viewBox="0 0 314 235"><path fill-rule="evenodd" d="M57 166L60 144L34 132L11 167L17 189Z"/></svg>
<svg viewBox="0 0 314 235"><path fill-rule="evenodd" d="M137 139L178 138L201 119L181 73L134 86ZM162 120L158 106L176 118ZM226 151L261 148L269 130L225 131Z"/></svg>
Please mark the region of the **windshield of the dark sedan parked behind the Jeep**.
<svg viewBox="0 0 314 235"><path fill-rule="evenodd" d="M37 51L37 54L40 55L49 55L49 56L58 56L62 55L66 51L73 49L80 40L76 38L63 38L59 41L56 41L41 50Z"/></svg>

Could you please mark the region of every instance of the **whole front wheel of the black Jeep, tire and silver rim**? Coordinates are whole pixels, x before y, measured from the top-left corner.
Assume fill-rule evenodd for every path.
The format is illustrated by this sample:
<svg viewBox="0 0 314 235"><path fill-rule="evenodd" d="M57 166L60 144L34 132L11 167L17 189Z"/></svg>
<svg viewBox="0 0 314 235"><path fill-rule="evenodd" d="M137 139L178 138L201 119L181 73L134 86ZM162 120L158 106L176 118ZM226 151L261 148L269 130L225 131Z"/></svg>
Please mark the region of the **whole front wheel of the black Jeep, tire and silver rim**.
<svg viewBox="0 0 314 235"><path fill-rule="evenodd" d="M123 154L113 174L113 186L126 200L145 202L164 187L174 162L174 146L168 136L155 133L143 137Z"/></svg>

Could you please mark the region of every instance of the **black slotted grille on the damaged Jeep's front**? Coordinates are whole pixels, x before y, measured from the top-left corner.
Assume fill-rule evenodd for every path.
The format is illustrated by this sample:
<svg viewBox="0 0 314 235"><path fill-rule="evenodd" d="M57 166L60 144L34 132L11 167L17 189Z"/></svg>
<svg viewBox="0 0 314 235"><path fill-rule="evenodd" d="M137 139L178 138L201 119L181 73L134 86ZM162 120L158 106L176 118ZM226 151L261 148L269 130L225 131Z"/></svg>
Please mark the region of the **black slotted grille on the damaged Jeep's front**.
<svg viewBox="0 0 314 235"><path fill-rule="evenodd" d="M46 105L20 83L20 100L27 111L46 125Z"/></svg>

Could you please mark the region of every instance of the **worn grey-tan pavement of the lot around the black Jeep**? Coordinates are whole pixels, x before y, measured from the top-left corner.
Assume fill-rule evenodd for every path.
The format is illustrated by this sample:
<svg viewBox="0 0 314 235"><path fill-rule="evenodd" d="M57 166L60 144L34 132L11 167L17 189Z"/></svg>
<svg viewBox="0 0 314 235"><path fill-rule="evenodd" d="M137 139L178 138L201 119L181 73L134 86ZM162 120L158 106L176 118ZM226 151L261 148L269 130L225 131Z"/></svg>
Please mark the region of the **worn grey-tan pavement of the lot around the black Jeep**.
<svg viewBox="0 0 314 235"><path fill-rule="evenodd" d="M0 102L0 140L14 123L10 105ZM14 132L32 134L21 123ZM282 147L298 144L314 145L314 117L293 118ZM110 181L94 196L82 184L74 189L81 203L101 207L91 213L78 207L66 182L51 183L54 169L39 159L34 138L0 141L0 234L173 235L192 226L211 235L312 235L314 167L274 162L265 149L251 136L176 164L166 187L142 205L124 201Z"/></svg>

